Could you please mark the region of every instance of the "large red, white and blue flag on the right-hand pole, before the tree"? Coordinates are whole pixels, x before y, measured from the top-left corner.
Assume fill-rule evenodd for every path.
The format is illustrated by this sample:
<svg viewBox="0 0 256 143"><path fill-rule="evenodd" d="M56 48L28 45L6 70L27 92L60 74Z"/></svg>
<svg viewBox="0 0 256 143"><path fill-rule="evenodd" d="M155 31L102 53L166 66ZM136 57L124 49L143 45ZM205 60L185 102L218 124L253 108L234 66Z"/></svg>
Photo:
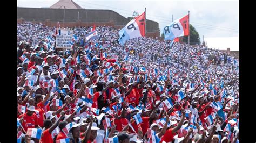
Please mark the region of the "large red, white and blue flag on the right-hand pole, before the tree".
<svg viewBox="0 0 256 143"><path fill-rule="evenodd" d="M163 29L164 39L172 40L176 37L187 36L190 34L189 30L189 15L186 15L183 18L179 18L172 22L170 25L167 25Z"/></svg>

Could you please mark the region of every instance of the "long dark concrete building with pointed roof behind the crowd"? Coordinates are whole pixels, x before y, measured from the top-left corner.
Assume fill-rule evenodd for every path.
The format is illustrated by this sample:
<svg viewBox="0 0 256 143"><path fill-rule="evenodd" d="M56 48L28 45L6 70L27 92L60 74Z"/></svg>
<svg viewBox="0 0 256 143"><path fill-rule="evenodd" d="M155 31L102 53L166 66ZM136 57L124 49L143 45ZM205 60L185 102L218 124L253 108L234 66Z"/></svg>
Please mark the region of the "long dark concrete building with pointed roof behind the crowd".
<svg viewBox="0 0 256 143"><path fill-rule="evenodd" d="M60 27L88 27L95 24L121 29L129 22L129 18L112 10L83 9L72 0L60 0L50 8L17 8L17 23L25 21L42 23L50 27L56 27L59 22ZM146 36L160 36L157 22L146 19Z"/></svg>

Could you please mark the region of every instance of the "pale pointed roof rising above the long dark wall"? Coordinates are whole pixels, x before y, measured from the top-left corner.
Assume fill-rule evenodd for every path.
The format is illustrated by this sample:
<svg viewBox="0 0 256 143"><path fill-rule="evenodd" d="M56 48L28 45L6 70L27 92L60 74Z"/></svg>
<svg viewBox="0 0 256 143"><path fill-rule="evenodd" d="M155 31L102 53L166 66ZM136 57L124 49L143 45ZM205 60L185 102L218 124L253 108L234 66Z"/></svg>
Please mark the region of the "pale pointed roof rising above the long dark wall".
<svg viewBox="0 0 256 143"><path fill-rule="evenodd" d="M83 9L81 6L72 0L59 0L57 3L50 6L50 9Z"/></svg>

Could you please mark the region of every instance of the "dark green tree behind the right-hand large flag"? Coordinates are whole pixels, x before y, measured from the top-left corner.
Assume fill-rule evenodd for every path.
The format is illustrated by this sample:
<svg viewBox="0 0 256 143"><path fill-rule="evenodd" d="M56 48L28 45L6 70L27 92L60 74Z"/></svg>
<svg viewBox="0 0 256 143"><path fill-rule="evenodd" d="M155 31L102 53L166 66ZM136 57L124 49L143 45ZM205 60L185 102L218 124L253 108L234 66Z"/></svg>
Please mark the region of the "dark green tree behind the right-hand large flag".
<svg viewBox="0 0 256 143"><path fill-rule="evenodd" d="M183 42L188 44L188 36L183 37ZM194 28L191 24L190 24L190 44L191 45L201 44L199 34L196 28Z"/></svg>

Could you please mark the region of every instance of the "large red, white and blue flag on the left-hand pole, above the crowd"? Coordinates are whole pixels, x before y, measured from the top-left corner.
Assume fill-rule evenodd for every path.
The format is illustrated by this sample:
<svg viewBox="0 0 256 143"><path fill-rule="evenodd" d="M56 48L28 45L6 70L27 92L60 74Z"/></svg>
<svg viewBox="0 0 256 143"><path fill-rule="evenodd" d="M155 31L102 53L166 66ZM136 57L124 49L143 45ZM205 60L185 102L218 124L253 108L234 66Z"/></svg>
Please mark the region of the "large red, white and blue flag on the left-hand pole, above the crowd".
<svg viewBox="0 0 256 143"><path fill-rule="evenodd" d="M124 45L124 42L145 36L145 12L142 15L132 19L122 30L119 31L119 39L120 44Z"/></svg>

